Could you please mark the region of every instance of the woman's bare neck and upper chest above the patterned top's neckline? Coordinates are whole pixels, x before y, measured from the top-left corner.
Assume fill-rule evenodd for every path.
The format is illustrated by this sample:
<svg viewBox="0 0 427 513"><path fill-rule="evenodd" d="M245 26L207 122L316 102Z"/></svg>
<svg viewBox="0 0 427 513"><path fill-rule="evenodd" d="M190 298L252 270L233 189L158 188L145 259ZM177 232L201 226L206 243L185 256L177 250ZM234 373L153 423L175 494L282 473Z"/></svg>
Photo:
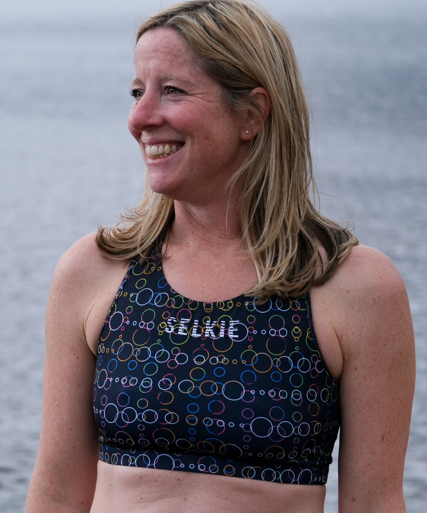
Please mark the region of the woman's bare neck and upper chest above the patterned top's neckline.
<svg viewBox="0 0 427 513"><path fill-rule="evenodd" d="M225 301L258 281L241 240L237 208L216 201L194 207L175 202L175 220L162 253L165 278L186 298Z"/></svg>

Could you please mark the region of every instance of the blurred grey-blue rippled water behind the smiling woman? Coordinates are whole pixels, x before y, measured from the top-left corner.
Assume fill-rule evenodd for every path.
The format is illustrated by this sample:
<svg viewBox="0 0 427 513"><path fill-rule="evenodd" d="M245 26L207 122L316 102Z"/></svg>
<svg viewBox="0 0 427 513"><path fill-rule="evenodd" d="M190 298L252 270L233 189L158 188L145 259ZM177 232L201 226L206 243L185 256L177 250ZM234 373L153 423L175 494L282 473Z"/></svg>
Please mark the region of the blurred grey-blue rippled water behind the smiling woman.
<svg viewBox="0 0 427 513"><path fill-rule="evenodd" d="M55 263L143 190L127 115L134 28L147 12L114 0L16 5L0 5L0 509L10 513L24 509L37 453ZM427 14L403 3L392 13L369 2L359 12L268 5L293 37L311 97L322 210L352 219L408 288L418 367L404 492L410 513L425 511ZM336 459L327 488L325 511L336 513Z"/></svg>

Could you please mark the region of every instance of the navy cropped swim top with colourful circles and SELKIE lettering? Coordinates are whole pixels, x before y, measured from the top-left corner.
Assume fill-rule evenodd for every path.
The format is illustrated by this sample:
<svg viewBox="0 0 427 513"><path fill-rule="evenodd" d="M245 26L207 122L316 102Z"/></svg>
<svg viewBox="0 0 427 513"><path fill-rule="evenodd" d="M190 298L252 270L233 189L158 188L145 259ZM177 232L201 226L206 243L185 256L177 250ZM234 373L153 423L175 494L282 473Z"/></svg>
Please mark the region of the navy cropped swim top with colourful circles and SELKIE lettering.
<svg viewBox="0 0 427 513"><path fill-rule="evenodd" d="M171 289L157 254L131 262L99 338L99 458L326 483L338 384L319 352L310 293L193 301Z"/></svg>

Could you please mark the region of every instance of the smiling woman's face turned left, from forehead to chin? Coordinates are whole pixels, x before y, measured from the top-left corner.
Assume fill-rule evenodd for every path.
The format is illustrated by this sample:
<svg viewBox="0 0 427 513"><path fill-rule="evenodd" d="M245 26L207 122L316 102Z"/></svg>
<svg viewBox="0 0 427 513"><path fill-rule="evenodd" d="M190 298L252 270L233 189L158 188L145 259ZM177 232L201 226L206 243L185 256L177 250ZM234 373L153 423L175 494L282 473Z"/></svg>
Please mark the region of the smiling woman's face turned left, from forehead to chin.
<svg viewBox="0 0 427 513"><path fill-rule="evenodd" d="M172 29L141 36L129 130L141 148L153 191L204 204L223 195L247 141L241 139L242 122L221 102L220 85L194 62L193 52Z"/></svg>

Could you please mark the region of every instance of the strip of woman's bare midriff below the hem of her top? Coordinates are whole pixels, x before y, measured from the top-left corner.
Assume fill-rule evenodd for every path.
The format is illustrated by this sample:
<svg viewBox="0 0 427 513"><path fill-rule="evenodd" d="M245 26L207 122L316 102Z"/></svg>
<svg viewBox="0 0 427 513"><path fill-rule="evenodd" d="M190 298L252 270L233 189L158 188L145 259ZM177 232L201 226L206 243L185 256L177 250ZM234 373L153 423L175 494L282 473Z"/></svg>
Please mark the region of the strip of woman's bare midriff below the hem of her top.
<svg viewBox="0 0 427 513"><path fill-rule="evenodd" d="M269 483L99 461L90 513L323 513L324 485Z"/></svg>

